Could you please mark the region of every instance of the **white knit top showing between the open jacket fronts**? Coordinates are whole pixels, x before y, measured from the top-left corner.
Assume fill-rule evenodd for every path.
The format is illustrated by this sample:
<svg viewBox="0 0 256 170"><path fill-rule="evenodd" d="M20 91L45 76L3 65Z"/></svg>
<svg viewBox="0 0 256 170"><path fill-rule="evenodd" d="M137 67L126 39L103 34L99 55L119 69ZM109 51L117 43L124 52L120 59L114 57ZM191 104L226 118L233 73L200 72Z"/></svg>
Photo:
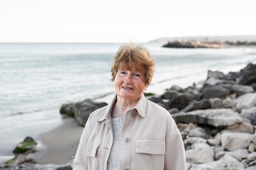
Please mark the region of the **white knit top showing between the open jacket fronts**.
<svg viewBox="0 0 256 170"><path fill-rule="evenodd" d="M107 170L119 170L121 131L125 117L112 118L113 144L108 157Z"/></svg>

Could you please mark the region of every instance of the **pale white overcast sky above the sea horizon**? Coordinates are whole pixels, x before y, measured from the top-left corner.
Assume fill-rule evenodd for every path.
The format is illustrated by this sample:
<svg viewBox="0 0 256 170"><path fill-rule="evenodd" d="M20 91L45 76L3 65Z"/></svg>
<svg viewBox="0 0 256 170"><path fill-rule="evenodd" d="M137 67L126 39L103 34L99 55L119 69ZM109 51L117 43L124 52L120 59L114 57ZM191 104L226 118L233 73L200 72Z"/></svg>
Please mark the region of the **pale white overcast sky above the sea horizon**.
<svg viewBox="0 0 256 170"><path fill-rule="evenodd" d="M0 42L256 35L256 0L0 0Z"/></svg>

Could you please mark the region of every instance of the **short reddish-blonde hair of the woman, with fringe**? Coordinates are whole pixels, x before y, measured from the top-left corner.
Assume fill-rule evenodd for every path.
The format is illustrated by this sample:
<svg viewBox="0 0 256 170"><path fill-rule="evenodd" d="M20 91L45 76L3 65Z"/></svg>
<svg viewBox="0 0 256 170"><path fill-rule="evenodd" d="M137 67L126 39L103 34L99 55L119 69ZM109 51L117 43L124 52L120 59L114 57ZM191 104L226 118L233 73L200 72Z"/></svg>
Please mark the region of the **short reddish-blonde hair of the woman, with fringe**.
<svg viewBox="0 0 256 170"><path fill-rule="evenodd" d="M112 81L115 80L119 69L131 70L132 67L144 73L145 85L150 85L155 71L155 60L145 45L126 43L119 47L111 65Z"/></svg>

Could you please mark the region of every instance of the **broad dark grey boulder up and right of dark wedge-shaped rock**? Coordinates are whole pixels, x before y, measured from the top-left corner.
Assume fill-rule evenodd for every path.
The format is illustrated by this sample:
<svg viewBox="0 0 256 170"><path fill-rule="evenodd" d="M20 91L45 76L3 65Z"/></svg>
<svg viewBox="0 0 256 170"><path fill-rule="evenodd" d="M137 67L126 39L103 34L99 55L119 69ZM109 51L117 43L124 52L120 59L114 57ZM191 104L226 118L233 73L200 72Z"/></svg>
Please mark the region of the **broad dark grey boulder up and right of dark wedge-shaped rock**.
<svg viewBox="0 0 256 170"><path fill-rule="evenodd" d="M223 88L220 85L204 87L201 90L204 98L224 98L231 94L229 89Z"/></svg>

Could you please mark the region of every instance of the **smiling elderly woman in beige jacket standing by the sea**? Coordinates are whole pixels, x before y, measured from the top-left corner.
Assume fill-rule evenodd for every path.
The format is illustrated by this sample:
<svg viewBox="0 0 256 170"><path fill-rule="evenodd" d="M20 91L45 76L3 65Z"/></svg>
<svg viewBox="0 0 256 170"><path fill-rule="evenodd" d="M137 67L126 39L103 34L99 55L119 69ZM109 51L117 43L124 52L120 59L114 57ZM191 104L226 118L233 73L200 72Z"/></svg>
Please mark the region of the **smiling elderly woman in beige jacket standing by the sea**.
<svg viewBox="0 0 256 170"><path fill-rule="evenodd" d="M175 121L143 94L154 67L145 46L130 43L119 48L111 66L117 94L90 114L73 170L186 170Z"/></svg>

